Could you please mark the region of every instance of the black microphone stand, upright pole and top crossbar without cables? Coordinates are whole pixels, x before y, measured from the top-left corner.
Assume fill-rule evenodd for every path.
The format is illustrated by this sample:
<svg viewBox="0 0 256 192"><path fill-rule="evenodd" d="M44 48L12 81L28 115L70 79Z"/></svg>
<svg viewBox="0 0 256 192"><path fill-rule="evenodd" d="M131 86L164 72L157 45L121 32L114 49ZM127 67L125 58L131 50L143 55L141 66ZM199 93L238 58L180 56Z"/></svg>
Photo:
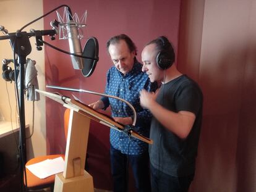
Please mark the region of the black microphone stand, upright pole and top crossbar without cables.
<svg viewBox="0 0 256 192"><path fill-rule="evenodd" d="M22 191L27 191L27 175L25 170L25 162L27 161L27 156L25 153L26 143L25 143L25 104L24 104L24 65L26 64L26 57L32 51L31 44L29 38L31 36L36 37L36 48L41 50L40 46L43 43L40 41L42 40L43 35L52 36L56 35L55 30L43 30L43 31L33 31L31 33L27 33L25 31L17 31L17 33L8 33L6 36L0 36L0 40L8 40L11 43L12 50L14 51L14 55L18 56L17 63L20 65L20 86L19 86L19 118L20 118L20 133L19 133L19 154L20 154L20 187ZM15 58L14 58L15 61ZM16 69L16 67L15 67ZM16 73L16 71L15 71ZM17 78L15 75L15 83L17 87ZM18 91L18 90L17 90ZM25 175L25 186L24 186L24 175Z"/></svg>

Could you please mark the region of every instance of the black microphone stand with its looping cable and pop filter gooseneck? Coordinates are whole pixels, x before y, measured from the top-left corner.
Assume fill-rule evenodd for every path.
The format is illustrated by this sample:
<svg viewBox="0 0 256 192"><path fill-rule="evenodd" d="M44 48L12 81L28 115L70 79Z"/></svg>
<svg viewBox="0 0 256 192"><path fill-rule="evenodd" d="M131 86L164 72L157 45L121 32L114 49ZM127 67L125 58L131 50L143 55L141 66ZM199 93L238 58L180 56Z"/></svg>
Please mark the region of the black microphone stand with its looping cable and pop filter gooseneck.
<svg viewBox="0 0 256 192"><path fill-rule="evenodd" d="M24 172L25 170L25 162L27 160L26 154L25 154L25 105L24 105L24 65L27 62L26 57L30 54L30 52L32 51L31 48L31 44L29 41L29 38L32 36L35 36L36 38L36 49L38 51L41 51L42 48L41 46L43 46L43 43L45 43L46 45L50 46L51 48L57 49L58 51L64 52L66 54L69 55L73 55L73 56L77 56L77 57L82 57L85 59L93 59L98 61L98 58L91 58L91 57L86 57L86 56L80 56L77 54L72 54L70 52L67 51L62 51L61 49L55 48L54 46L51 46L51 44L46 43L45 41L43 41L42 36L48 35L51 36L51 40L54 40L55 37L54 35L57 34L56 30L30 30L30 33L27 33L25 31L22 31L25 27L28 27L28 25L36 22L37 20L42 19L43 17L46 17L46 15L51 14L53 11L61 8L61 7L67 7L67 9L69 10L69 17L71 19L71 9L69 6L63 4L59 7L56 7L55 9L49 11L48 13L46 13L45 15L42 15L41 17L38 17L37 19L33 20L30 23L27 23L27 25L24 25L22 28L20 28L20 30L17 30L16 33L7 33L7 30L4 30L4 28L1 28L1 31L4 31L4 34L6 36L0 36L0 40L9 40L12 46L12 50L14 52L14 61L15 61L15 56L18 56L18 64L20 65L20 71L19 71L19 75L20 75L20 91L17 94L19 97L18 100L18 107L19 107L19 116L20 116L20 133L19 133L19 153L20 153L20 186L21 186L21 190L22 192L25 190L27 191L27 174L26 172ZM17 86L17 67L16 67L16 63L15 64L15 85L16 88ZM17 91L18 89L17 88ZM24 176L25 176L25 186L24 186Z"/></svg>

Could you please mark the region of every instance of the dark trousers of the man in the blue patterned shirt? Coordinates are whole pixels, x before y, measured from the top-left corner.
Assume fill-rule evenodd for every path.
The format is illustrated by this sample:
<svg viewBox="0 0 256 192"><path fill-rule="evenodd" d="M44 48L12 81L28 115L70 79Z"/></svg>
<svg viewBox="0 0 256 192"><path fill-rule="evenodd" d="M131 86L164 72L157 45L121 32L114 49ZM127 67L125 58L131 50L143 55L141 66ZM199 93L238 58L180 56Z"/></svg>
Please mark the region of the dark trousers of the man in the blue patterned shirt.
<svg viewBox="0 0 256 192"><path fill-rule="evenodd" d="M148 152L140 155L127 155L110 145L110 159L114 192L128 191L128 162L134 173L136 190L150 191Z"/></svg>

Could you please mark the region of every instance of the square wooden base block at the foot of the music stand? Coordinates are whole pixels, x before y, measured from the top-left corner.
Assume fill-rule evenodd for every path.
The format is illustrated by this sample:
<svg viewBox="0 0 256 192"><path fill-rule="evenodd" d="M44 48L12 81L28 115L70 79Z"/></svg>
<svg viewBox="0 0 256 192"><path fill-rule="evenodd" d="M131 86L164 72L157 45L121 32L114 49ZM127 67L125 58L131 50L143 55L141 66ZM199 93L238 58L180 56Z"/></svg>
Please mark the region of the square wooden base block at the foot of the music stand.
<svg viewBox="0 0 256 192"><path fill-rule="evenodd" d="M87 171L84 175L64 178L62 173L55 176L54 191L86 191L93 192L93 178Z"/></svg>

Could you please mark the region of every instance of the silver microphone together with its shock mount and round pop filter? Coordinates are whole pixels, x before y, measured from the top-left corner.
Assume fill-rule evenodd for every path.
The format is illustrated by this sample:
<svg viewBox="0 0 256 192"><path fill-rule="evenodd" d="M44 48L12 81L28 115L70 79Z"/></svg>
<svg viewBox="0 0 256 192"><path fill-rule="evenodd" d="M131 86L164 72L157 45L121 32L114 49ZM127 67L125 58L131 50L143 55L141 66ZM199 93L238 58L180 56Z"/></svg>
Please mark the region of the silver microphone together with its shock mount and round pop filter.
<svg viewBox="0 0 256 192"><path fill-rule="evenodd" d="M54 20L50 23L50 25L51 27L53 27L54 30L57 30L59 25L61 25L61 28L59 28L59 39L69 39L70 52L60 49L58 50L66 54L70 54L74 69L80 69L84 77L89 77L95 70L96 63L99 60L99 48L98 40L92 36L88 38L82 51L79 38L79 29L81 27L85 27L85 24L83 24L83 20L86 18L86 14L84 14L85 16L83 16L82 22L80 22L79 20L77 21L77 17L75 16L75 19L73 19L74 17L72 17L72 12L69 7L65 7L63 19L58 12L57 15L59 22Z"/></svg>

